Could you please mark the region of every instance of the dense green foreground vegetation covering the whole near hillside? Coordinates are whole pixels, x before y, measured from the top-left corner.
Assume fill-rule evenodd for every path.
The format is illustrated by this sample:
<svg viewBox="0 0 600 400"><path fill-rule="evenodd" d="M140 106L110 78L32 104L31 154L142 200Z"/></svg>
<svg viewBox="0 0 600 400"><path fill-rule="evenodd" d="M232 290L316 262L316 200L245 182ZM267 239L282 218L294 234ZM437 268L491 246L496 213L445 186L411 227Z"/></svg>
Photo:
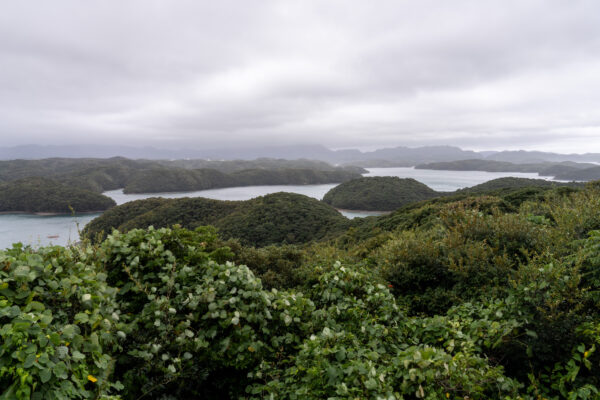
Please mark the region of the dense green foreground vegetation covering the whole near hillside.
<svg viewBox="0 0 600 400"><path fill-rule="evenodd" d="M596 399L599 271L599 184L437 198L304 246L15 245L0 396Z"/></svg>

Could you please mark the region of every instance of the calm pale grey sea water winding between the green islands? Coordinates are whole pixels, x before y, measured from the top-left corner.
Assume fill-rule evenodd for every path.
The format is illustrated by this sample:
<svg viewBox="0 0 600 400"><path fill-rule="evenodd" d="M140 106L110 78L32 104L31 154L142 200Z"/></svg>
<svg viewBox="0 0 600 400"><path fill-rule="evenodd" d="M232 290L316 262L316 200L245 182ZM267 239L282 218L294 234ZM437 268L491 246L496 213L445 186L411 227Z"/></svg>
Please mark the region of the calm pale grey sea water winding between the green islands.
<svg viewBox="0 0 600 400"><path fill-rule="evenodd" d="M454 191L464 187L478 185L492 179L505 176L539 178L534 173L481 172L481 171L431 171L413 168L369 168L365 176L398 176L414 178L437 191ZM274 185L246 186L225 189L201 190L185 193L124 194L122 190L105 192L117 204L148 197L207 197L217 200L248 200L275 192L300 193L322 199L325 193L336 184L327 185ZM355 212L341 210L348 218L379 215L377 212ZM10 247L12 243L22 242L33 246L48 244L65 245L79 239L78 227L83 228L100 214L79 214L75 216L39 216L31 214L0 215L0 249Z"/></svg>

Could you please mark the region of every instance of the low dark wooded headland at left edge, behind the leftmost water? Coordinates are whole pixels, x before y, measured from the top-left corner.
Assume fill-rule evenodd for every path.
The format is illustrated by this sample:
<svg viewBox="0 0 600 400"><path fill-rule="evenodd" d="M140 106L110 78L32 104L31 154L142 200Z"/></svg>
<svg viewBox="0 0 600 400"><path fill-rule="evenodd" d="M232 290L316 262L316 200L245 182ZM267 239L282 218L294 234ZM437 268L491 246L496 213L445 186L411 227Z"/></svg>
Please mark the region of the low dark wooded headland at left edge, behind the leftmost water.
<svg viewBox="0 0 600 400"><path fill-rule="evenodd" d="M110 197L50 179L25 178L0 183L0 212L88 212L104 211L115 205Z"/></svg>

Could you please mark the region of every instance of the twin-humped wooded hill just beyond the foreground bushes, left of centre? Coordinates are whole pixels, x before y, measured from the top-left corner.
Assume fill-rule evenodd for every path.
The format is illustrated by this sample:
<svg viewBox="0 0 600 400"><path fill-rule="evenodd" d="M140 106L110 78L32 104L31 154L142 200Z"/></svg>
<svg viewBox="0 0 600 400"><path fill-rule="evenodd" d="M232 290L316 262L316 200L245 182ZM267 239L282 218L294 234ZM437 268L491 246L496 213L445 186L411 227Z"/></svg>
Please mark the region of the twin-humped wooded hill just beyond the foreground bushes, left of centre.
<svg viewBox="0 0 600 400"><path fill-rule="evenodd" d="M174 224L190 229L210 224L219 228L223 237L266 246L319 240L346 228L348 220L327 204L294 193L273 193L246 201L151 198L107 211L90 222L84 234L95 238L113 229Z"/></svg>

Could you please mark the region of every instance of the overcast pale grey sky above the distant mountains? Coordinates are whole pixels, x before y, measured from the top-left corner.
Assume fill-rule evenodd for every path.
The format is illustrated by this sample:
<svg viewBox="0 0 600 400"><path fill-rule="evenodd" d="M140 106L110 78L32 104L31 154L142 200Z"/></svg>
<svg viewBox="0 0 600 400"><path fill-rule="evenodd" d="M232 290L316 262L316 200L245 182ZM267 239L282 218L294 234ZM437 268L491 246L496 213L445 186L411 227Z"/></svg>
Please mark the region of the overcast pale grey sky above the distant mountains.
<svg viewBox="0 0 600 400"><path fill-rule="evenodd" d="M0 139L600 152L600 2L5 1Z"/></svg>

